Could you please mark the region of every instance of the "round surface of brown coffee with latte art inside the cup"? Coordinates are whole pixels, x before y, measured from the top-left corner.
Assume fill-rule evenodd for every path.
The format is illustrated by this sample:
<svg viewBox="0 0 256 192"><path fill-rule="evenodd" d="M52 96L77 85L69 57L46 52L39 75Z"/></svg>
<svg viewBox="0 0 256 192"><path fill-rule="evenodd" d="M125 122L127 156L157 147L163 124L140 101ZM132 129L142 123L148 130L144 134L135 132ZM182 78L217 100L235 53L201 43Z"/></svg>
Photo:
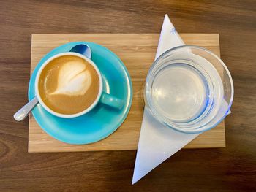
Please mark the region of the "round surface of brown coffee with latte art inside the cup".
<svg viewBox="0 0 256 192"><path fill-rule="evenodd" d="M99 77L83 58L63 55L42 69L38 89L42 101L51 110L71 115L86 110L97 99Z"/></svg>

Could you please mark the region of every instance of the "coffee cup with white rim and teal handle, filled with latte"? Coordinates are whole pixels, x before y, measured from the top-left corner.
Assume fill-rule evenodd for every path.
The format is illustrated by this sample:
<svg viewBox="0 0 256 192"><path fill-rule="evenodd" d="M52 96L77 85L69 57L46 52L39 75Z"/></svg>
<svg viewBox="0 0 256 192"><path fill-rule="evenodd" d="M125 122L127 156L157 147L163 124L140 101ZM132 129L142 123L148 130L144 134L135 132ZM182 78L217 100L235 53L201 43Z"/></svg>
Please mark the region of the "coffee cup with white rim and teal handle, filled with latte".
<svg viewBox="0 0 256 192"><path fill-rule="evenodd" d="M103 91L102 74L85 55L66 52L48 58L35 80L39 104L60 118L75 118L99 104L117 110L123 101Z"/></svg>

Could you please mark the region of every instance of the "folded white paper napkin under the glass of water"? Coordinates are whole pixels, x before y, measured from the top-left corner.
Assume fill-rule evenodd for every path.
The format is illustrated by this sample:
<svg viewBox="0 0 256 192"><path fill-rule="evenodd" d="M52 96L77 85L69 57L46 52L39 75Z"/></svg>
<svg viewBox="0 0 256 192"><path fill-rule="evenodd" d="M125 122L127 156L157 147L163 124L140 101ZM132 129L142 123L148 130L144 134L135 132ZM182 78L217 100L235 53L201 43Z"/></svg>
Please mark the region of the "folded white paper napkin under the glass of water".
<svg viewBox="0 0 256 192"><path fill-rule="evenodd" d="M185 44L174 28L173 23L170 22L168 15L165 15L155 59L166 50L180 45ZM136 183L198 135L183 134L165 127L151 115L148 107L145 107L132 184Z"/></svg>

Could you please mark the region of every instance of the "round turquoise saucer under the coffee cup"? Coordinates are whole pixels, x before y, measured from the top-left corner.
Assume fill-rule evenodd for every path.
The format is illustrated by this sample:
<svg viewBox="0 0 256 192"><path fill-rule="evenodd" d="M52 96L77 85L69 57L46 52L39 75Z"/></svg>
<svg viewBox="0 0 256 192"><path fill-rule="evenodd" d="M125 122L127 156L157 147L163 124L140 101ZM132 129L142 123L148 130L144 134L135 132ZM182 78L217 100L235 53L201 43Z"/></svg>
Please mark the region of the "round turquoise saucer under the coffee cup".
<svg viewBox="0 0 256 192"><path fill-rule="evenodd" d="M132 81L127 68L113 52L92 42L70 42L56 47L45 55L31 75L29 100L35 96L34 82L39 67L51 56L68 52L72 47L81 43L91 48L91 60L102 72L103 91L122 99L124 107L116 110L104 104L97 104L94 110L78 118L58 118L44 110L40 104L32 111L35 120L46 133L61 142L77 145L97 142L108 137L127 118L132 104Z"/></svg>

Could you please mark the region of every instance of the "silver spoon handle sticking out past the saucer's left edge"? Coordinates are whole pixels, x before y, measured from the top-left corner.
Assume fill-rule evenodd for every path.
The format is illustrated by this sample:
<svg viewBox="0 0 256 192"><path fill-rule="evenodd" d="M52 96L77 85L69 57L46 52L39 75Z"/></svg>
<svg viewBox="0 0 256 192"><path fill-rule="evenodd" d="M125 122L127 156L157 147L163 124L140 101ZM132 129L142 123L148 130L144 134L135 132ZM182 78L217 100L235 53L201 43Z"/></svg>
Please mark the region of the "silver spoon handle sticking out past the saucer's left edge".
<svg viewBox="0 0 256 192"><path fill-rule="evenodd" d="M38 104L37 96L31 99L27 104L25 104L18 112L13 115L13 118L17 121L21 121L29 115L29 112L34 109Z"/></svg>

